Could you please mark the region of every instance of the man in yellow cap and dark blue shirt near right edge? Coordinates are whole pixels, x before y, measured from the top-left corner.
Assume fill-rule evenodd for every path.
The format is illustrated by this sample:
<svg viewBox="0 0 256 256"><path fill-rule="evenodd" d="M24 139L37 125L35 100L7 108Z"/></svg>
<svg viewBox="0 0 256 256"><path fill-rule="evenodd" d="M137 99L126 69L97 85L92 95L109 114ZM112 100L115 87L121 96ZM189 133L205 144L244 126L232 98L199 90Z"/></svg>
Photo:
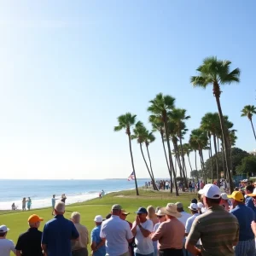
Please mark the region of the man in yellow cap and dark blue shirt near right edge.
<svg viewBox="0 0 256 256"><path fill-rule="evenodd" d="M233 209L230 213L234 214L239 223L239 241L236 245L236 256L255 255L255 241L251 223L255 220L255 213L244 203L244 197L239 191L234 191L228 197L232 200Z"/></svg>

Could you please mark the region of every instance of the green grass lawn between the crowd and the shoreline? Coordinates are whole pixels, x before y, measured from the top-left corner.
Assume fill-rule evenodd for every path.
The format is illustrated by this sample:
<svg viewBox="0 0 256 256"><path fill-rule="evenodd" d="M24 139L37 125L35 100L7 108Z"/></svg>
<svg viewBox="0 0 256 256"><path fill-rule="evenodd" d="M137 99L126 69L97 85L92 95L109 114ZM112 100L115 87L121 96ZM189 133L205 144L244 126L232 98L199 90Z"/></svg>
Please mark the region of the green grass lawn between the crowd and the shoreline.
<svg viewBox="0 0 256 256"><path fill-rule="evenodd" d="M140 189L140 196L136 196L134 190L125 190L105 195L102 199L94 199L67 206L65 217L70 218L72 212L80 212L81 224L84 224L90 232L95 225L94 217L101 214L104 218L111 211L113 204L120 204L127 212L131 212L127 220L132 222L136 217L134 212L138 207L148 207L149 205L164 207L168 202L181 201L186 211L190 200L194 197L196 197L195 194L182 194L176 197L170 195L169 192L155 192L143 189ZM16 243L20 233L28 229L27 218L34 213L44 218L44 222L41 223L39 228L39 230L43 230L44 223L52 218L51 208L35 209L30 212L0 211L0 224L5 224L10 229L7 238Z"/></svg>

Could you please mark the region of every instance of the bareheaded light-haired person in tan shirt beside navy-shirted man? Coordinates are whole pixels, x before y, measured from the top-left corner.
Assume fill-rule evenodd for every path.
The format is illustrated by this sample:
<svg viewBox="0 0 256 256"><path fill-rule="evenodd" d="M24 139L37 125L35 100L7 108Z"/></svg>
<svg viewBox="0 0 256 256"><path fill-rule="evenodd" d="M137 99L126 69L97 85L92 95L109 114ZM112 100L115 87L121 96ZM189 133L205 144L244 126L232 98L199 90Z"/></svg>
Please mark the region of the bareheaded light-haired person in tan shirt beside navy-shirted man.
<svg viewBox="0 0 256 256"><path fill-rule="evenodd" d="M80 224L81 215L79 212L72 212L71 221L79 232L79 240L72 245L73 256L88 256L87 245L89 244L89 234L87 228Z"/></svg>

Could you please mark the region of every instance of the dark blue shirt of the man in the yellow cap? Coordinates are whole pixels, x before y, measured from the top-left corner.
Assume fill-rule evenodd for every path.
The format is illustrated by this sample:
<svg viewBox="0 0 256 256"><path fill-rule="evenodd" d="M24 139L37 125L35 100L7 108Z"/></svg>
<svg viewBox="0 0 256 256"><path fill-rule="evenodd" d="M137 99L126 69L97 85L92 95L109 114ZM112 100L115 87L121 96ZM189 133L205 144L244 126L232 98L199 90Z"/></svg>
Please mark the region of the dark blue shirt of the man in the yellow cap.
<svg viewBox="0 0 256 256"><path fill-rule="evenodd" d="M254 239L251 223L255 220L253 210L245 205L238 205L230 213L234 214L239 223L239 241Z"/></svg>

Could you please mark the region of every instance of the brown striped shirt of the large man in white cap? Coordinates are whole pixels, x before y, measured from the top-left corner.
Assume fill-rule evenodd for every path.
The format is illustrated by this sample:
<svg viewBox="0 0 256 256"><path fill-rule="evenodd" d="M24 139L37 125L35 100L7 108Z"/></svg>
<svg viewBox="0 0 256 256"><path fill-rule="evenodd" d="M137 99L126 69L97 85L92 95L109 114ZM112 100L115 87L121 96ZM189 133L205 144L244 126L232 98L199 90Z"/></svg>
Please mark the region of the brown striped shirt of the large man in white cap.
<svg viewBox="0 0 256 256"><path fill-rule="evenodd" d="M233 245L239 239L237 218L224 207L209 207L207 212L195 218L187 242L196 245L199 239L203 256L234 256Z"/></svg>

